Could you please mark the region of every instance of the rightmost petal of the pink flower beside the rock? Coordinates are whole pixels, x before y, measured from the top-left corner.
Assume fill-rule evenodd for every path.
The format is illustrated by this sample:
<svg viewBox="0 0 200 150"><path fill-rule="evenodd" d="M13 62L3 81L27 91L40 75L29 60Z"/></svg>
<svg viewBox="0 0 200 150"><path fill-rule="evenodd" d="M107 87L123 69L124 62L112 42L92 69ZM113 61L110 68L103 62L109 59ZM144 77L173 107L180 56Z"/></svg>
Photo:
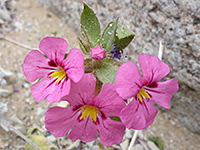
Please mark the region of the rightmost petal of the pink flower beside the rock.
<svg viewBox="0 0 200 150"><path fill-rule="evenodd" d="M167 109L170 109L169 103L172 94L177 92L178 89L178 79L176 78L165 82L158 82L156 87L147 87L148 92L152 96L152 100Z"/></svg>

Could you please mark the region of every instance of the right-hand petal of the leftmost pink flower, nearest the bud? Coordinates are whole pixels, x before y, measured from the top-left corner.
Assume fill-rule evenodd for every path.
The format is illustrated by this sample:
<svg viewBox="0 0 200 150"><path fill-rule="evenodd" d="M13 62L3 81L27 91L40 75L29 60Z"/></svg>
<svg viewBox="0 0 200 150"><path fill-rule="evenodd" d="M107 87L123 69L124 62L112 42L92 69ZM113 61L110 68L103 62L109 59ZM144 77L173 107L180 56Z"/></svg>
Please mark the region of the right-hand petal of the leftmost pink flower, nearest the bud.
<svg viewBox="0 0 200 150"><path fill-rule="evenodd" d="M84 74L84 57L80 50L70 50L63 65L67 76L74 82L79 82Z"/></svg>

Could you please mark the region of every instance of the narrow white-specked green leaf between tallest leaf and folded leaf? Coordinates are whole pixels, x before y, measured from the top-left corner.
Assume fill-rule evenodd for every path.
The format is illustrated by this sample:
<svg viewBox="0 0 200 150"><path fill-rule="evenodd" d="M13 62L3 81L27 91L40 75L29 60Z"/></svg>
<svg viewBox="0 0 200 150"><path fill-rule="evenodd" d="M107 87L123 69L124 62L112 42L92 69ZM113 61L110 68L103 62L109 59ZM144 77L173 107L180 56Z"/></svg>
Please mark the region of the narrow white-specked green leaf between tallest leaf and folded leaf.
<svg viewBox="0 0 200 150"><path fill-rule="evenodd" d="M103 34L101 36L101 47L107 51L111 51L112 45L115 41L117 22L118 19L111 21L104 29Z"/></svg>

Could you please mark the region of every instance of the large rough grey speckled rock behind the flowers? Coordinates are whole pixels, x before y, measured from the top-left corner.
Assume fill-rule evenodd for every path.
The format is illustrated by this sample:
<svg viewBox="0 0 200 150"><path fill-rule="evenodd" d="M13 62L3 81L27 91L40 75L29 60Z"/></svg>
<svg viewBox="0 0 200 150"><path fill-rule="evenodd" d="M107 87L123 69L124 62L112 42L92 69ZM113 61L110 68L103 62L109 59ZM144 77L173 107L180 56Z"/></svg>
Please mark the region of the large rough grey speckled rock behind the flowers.
<svg viewBox="0 0 200 150"><path fill-rule="evenodd" d="M79 0L38 0L79 34L82 3ZM169 64L168 77L179 79L170 113L194 133L200 134L200 1L199 0L85 0L97 14L101 29L120 18L135 32L125 50L129 60L138 54L157 55L164 44L163 61Z"/></svg>

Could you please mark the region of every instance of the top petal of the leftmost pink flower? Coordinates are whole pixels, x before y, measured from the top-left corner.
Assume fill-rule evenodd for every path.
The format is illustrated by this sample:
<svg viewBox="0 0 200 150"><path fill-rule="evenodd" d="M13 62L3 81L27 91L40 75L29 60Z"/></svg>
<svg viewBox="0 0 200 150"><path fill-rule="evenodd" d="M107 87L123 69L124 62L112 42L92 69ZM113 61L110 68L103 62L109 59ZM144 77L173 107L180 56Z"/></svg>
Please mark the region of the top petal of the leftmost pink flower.
<svg viewBox="0 0 200 150"><path fill-rule="evenodd" d="M67 42L59 37L46 37L40 41L39 49L47 55L50 60L60 65L67 52Z"/></svg>

